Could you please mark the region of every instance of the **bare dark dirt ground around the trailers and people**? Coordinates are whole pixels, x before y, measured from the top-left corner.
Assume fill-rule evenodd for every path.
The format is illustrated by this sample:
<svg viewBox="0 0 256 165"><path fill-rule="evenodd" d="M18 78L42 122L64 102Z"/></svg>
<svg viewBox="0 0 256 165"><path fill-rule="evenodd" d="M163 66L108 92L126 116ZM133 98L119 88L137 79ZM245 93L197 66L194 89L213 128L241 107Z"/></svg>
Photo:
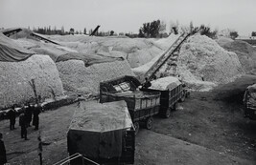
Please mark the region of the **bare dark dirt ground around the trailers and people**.
<svg viewBox="0 0 256 165"><path fill-rule="evenodd" d="M245 119L241 100L244 89L256 82L245 75L213 92L192 93L180 104L181 110L168 119L154 117L151 131L136 136L134 164L256 164L256 121ZM40 114L44 164L53 164L67 154L66 133L76 104ZM9 131L9 121L0 121L8 162L38 164L38 131L28 129L20 138L20 128Z"/></svg>

